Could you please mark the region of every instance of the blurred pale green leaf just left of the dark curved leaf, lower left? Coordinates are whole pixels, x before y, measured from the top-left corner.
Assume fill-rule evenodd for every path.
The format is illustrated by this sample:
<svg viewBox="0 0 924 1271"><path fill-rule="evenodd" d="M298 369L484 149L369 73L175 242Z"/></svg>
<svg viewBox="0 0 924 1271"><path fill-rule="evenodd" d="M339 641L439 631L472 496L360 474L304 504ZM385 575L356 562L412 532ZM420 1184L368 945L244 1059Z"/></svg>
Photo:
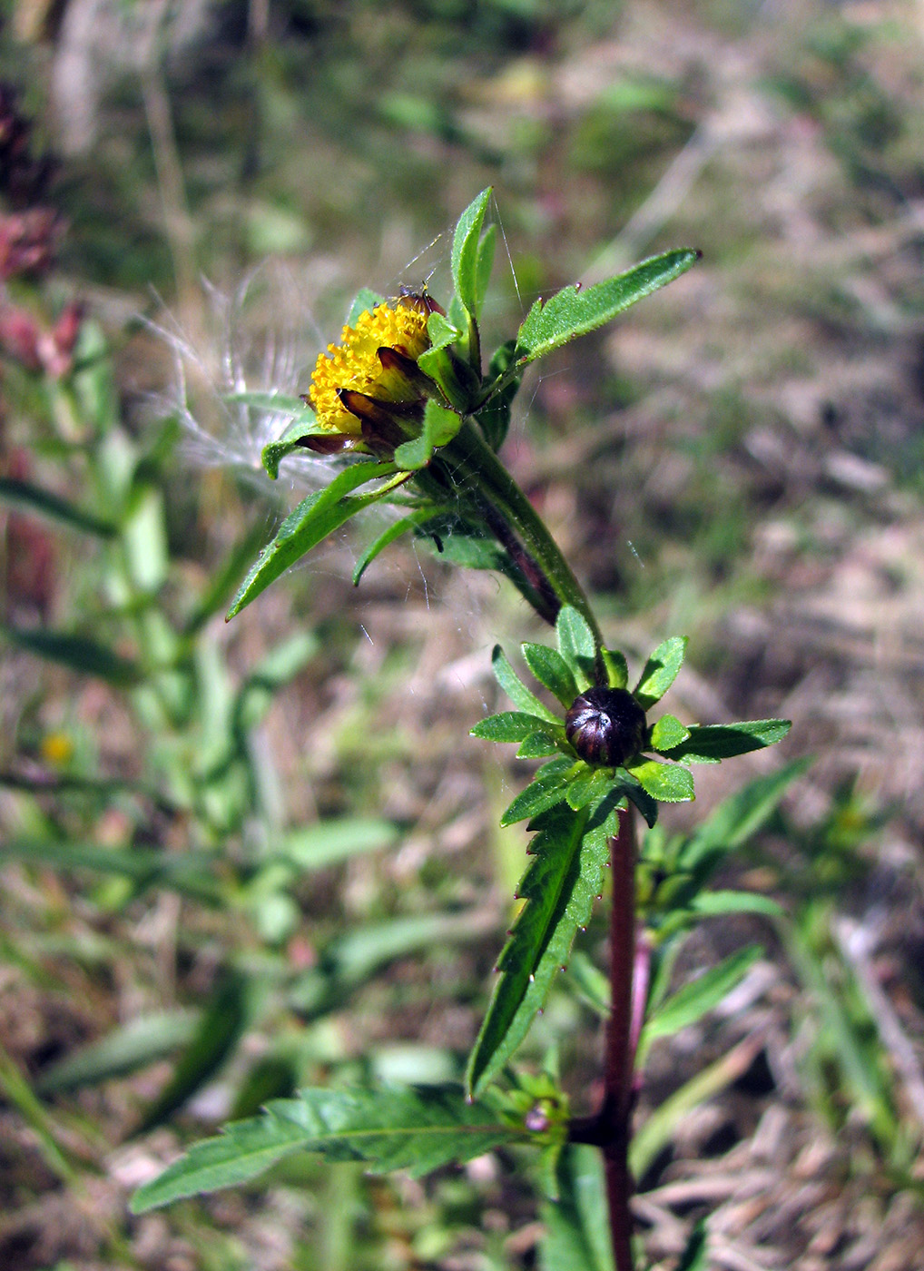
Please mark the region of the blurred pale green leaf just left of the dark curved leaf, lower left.
<svg viewBox="0 0 924 1271"><path fill-rule="evenodd" d="M196 1024L194 1010L159 1010L139 1016L58 1060L38 1078L36 1092L57 1094L133 1073L184 1046L191 1041Z"/></svg>

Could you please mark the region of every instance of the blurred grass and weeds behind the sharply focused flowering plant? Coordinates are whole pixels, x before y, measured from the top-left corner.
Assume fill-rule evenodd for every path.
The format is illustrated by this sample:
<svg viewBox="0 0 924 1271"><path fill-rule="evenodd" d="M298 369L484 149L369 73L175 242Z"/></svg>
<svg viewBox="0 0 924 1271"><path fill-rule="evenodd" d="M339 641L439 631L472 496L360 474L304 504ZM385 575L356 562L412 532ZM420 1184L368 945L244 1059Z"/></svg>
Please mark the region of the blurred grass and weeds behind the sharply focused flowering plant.
<svg viewBox="0 0 924 1271"><path fill-rule="evenodd" d="M459 1075L482 1017L525 846L494 826L522 775L466 732L496 704L489 646L544 634L512 588L419 549L355 591L351 538L225 627L310 470L262 484L267 422L215 389L229 367L304 389L360 286L428 277L438 299L444 231L488 183L498 329L536 292L704 250L544 369L506 452L613 642L693 637L671 709L791 717L755 780L816 756L728 869L787 920L714 924L675 969L768 948L652 1052L649 1262L708 1210L731 1271L914 1266L919 6L5 14L0 1266L535 1265L541 1215L503 1154L426 1183L305 1159L125 1209L179 1140L273 1094ZM667 833L745 764L700 777ZM602 935L524 1051L538 1069L563 1047L578 1111Z"/></svg>

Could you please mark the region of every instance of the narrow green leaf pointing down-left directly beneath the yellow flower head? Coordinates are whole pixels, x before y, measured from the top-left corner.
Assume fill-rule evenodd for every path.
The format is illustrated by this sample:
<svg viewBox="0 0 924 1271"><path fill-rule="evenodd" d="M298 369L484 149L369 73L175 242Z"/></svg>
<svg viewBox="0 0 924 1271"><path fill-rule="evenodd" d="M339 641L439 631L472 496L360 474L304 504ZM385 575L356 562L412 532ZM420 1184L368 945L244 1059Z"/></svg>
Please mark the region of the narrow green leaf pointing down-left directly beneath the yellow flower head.
<svg viewBox="0 0 924 1271"><path fill-rule="evenodd" d="M376 478L394 477L395 473L394 464L351 464L330 482L327 489L318 491L302 500L295 511L285 519L276 538L252 566L234 597L228 618L239 614L271 582L275 582L280 574L285 573L313 547L316 547L328 534L339 529L351 516L388 494L394 487L394 482L385 482L371 493L353 498L344 497L350 491Z"/></svg>

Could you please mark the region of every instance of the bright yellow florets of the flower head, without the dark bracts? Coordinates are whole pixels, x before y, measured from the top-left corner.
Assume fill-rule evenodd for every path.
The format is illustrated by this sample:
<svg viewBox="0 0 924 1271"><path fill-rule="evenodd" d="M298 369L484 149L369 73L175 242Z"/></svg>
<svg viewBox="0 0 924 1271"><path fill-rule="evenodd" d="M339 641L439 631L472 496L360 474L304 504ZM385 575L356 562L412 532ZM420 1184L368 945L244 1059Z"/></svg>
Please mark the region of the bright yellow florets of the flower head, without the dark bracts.
<svg viewBox="0 0 924 1271"><path fill-rule="evenodd" d="M419 296L400 296L360 314L344 327L339 344L329 344L311 375L308 398L318 423L348 437L362 436L361 421L346 409L342 390L362 393L376 402L402 404L419 398L419 389L397 367L385 367L380 348L391 348L417 361L427 348L430 305Z"/></svg>

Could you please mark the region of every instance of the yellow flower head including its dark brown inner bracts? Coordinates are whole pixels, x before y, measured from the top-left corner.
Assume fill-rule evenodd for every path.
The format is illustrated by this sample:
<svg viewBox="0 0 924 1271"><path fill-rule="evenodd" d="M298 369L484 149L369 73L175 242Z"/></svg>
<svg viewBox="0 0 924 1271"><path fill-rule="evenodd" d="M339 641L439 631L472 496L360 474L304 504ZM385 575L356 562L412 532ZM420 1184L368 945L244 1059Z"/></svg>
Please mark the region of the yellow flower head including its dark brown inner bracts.
<svg viewBox="0 0 924 1271"><path fill-rule="evenodd" d="M313 437L313 449L403 440L398 421L418 419L426 395L416 362L430 348L427 318L436 309L430 296L399 296L343 328L339 344L318 358L306 394L318 423L330 432L329 440Z"/></svg>

